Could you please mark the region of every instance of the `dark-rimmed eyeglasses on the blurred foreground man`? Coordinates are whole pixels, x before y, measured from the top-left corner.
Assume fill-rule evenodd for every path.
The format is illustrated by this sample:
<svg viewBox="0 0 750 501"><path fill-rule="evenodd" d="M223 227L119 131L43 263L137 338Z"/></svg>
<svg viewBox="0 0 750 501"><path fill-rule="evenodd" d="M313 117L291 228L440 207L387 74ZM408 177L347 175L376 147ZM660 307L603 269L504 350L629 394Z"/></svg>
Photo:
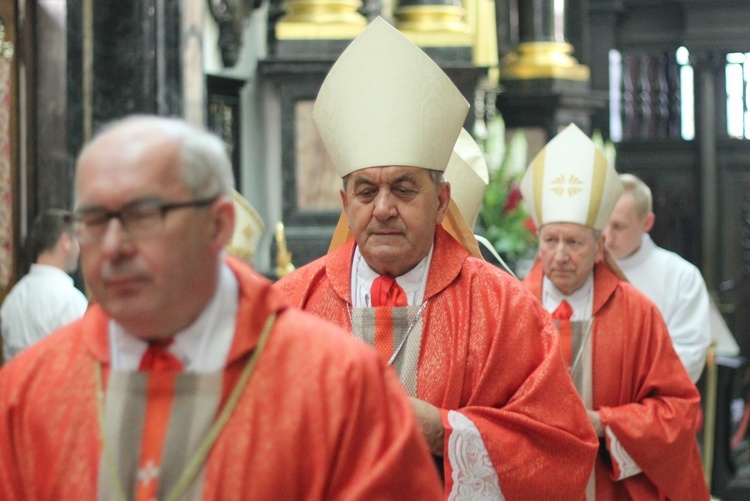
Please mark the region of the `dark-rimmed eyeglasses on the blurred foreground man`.
<svg viewBox="0 0 750 501"><path fill-rule="evenodd" d="M109 211L100 207L84 208L75 211L71 220L76 238L81 243L101 240L107 232L109 222L117 219L131 238L148 238L164 231L166 215L177 209L206 207L219 196L199 198L186 202L161 202L158 200L138 200L120 210Z"/></svg>

